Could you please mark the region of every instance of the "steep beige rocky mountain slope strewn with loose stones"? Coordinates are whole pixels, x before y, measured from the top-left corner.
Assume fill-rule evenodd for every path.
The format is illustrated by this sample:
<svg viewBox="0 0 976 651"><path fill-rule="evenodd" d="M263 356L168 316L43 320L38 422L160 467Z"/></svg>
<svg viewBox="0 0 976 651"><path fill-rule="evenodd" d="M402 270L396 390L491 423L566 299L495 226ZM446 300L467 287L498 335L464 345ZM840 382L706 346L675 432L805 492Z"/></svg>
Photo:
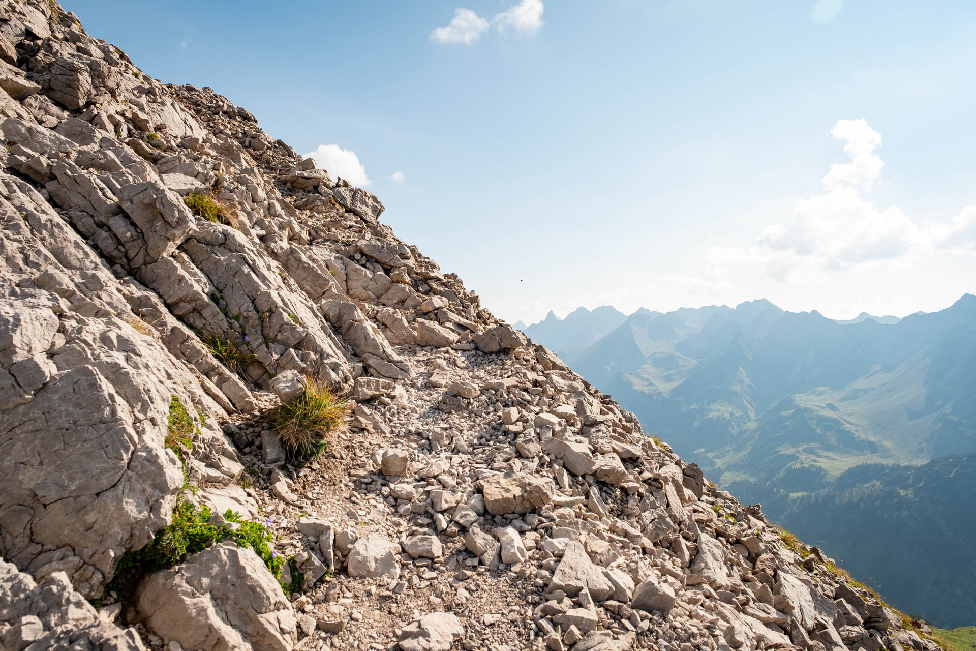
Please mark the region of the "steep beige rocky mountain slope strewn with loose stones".
<svg viewBox="0 0 976 651"><path fill-rule="evenodd" d="M53 0L0 60L3 649L936 648L247 110Z"/></svg>

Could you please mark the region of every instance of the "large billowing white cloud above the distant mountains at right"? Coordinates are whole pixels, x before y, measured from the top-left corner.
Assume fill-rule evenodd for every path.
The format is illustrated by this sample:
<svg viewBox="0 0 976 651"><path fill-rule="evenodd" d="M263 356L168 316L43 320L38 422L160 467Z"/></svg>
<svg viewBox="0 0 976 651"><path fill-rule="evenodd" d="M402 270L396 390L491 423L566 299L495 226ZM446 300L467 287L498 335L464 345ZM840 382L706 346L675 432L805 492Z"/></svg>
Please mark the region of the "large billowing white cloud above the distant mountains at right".
<svg viewBox="0 0 976 651"><path fill-rule="evenodd" d="M811 281L878 264L905 268L936 250L976 253L976 206L943 224L918 223L897 206L878 208L867 193L881 180L881 135L864 119L838 120L831 135L844 142L849 162L831 165L823 192L799 199L791 221L767 225L750 247L710 248L704 278L725 285L730 267L759 267L778 282Z"/></svg>

